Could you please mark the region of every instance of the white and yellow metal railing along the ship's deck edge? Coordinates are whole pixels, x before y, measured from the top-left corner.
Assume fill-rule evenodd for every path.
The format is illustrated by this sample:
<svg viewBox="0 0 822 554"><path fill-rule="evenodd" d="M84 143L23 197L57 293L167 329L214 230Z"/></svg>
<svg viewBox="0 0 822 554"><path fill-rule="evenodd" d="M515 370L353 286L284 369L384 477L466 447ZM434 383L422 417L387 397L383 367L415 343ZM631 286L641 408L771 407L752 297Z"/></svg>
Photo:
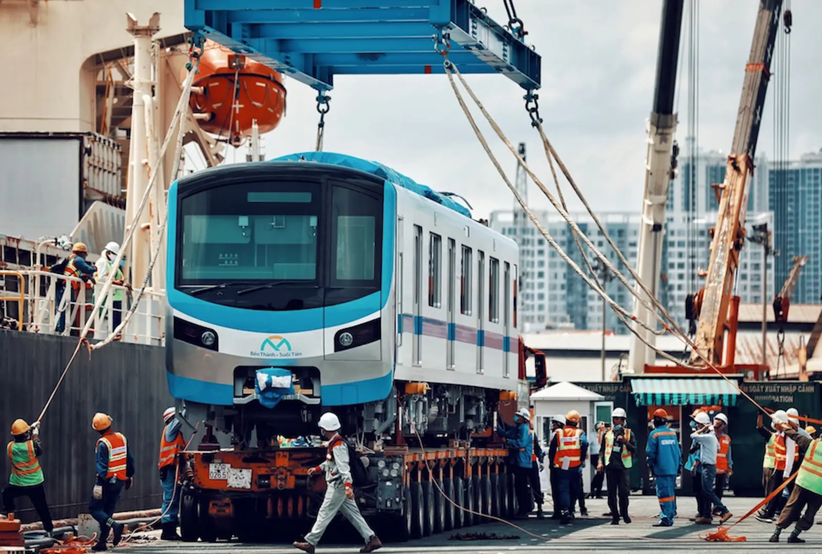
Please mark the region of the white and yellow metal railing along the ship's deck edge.
<svg viewBox="0 0 822 554"><path fill-rule="evenodd" d="M112 284L99 310L95 300L102 284L42 270L0 271L0 316L16 321L16 329L44 335L80 335L91 320L89 339L104 339L113 333L133 306L134 293L124 285ZM116 301L114 296L122 297ZM164 291L145 290L120 340L136 344L165 342Z"/></svg>

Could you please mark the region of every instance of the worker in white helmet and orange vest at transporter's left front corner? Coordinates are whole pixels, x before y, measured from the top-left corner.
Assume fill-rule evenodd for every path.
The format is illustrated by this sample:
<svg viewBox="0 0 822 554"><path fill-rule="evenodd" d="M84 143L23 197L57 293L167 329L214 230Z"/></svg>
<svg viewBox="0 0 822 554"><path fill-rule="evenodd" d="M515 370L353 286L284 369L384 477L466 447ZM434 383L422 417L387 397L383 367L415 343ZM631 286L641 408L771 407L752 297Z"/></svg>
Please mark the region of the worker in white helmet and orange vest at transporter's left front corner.
<svg viewBox="0 0 822 554"><path fill-rule="evenodd" d="M163 436L159 440L159 482L163 486L163 533L160 540L179 541L177 534L178 509L180 506L180 487L178 487L179 459L178 454L186 449L182 438L182 423L175 418L177 410L166 409L163 413Z"/></svg>

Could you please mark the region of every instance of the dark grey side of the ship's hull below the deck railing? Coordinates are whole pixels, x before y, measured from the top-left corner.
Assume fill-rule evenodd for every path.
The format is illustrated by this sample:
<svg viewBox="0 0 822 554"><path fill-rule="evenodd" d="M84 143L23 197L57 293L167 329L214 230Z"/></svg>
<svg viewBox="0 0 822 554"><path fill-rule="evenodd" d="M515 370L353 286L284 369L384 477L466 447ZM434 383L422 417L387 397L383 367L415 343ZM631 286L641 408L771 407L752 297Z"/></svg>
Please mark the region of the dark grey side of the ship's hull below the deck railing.
<svg viewBox="0 0 822 554"><path fill-rule="evenodd" d="M0 430L16 418L32 422L51 394L76 347L76 339L0 330ZM87 512L95 479L95 412L109 413L113 429L128 440L136 463L134 486L123 492L118 511L160 506L157 471L162 413L173 405L165 378L165 349L113 343L91 356L83 349L45 414L40 459L46 495L54 518ZM0 463L7 478L7 456ZM36 519L25 499L16 513Z"/></svg>

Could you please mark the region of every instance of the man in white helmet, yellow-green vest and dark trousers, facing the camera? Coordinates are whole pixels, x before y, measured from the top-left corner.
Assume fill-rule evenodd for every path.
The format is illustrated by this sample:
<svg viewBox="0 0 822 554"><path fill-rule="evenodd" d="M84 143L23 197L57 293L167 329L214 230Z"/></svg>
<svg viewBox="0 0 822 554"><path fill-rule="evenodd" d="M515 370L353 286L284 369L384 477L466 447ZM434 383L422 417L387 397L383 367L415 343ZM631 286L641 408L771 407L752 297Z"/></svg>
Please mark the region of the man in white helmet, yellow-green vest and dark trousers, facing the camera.
<svg viewBox="0 0 822 554"><path fill-rule="evenodd" d="M628 496L630 495L630 476L628 470L634 466L636 441L634 433L626 427L628 414L625 409L617 408L611 414L612 427L605 433L605 448L599 460L597 471L605 471L608 486L608 509L611 524L619 525L620 516L630 524L628 515ZM619 503L617 504L617 497Z"/></svg>

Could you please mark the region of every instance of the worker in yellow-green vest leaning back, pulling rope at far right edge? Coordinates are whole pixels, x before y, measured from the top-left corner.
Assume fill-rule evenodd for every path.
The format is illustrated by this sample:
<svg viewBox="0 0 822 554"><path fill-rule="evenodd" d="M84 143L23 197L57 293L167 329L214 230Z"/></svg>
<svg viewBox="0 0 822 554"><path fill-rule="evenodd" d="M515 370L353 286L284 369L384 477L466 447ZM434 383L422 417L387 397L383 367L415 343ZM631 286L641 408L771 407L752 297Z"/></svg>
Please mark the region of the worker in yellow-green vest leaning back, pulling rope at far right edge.
<svg viewBox="0 0 822 554"><path fill-rule="evenodd" d="M812 439L803 433L798 420L793 418L787 422L777 422L776 427L792 441L796 441L797 446L805 452L805 457L797 472L796 486L793 487L791 496L779 515L776 529L769 542L779 542L779 535L783 529L796 522L787 542L801 543L805 540L799 538L799 533L810 529L814 524L816 512L822 507L822 441ZM801 513L803 508L804 515Z"/></svg>

